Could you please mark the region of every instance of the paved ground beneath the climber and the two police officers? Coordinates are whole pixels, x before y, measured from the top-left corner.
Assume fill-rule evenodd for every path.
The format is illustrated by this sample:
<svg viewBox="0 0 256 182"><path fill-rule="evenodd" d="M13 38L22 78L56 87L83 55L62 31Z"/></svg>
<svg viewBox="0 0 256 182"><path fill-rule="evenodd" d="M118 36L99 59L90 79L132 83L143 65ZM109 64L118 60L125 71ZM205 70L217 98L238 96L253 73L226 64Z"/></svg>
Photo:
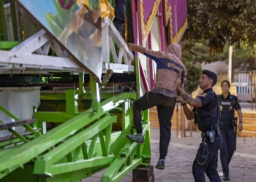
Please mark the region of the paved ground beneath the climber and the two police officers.
<svg viewBox="0 0 256 182"><path fill-rule="evenodd" d="M195 159L197 146L200 143L200 133L192 132L192 137L177 138L176 131L172 131L172 138L166 158L165 170L154 170L156 182L191 182L192 162ZM189 135L189 132L187 132ZM151 165L156 165L159 157L159 128L151 127ZM222 171L219 161L218 171ZM84 181L100 181L102 173L93 175ZM131 182L129 173L120 182ZM208 178L206 177L206 181ZM230 162L230 181L256 181L256 138L238 138L237 151Z"/></svg>

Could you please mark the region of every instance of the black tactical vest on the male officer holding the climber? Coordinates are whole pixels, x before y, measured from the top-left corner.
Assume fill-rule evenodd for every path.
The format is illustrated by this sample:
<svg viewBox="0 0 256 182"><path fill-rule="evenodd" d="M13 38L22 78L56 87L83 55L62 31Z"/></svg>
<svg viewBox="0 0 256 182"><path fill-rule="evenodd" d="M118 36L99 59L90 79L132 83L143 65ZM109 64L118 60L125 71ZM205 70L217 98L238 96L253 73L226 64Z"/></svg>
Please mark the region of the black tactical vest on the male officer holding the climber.
<svg viewBox="0 0 256 182"><path fill-rule="evenodd" d="M207 92L209 93L209 92ZM211 129L215 129L219 126L219 100L218 96L215 94L216 106L211 111L204 111L202 108L195 108L195 123L197 124L198 130L206 132Z"/></svg>

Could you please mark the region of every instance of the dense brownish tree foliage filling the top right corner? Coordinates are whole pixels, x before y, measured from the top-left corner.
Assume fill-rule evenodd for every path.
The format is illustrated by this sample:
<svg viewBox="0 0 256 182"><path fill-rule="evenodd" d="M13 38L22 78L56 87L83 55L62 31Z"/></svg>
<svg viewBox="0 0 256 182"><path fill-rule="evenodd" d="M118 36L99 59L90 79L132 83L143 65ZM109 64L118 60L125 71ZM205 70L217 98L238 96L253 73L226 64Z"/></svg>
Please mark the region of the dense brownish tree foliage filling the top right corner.
<svg viewBox="0 0 256 182"><path fill-rule="evenodd" d="M184 39L207 41L209 53L223 52L225 45L240 47L256 42L255 0L187 0L189 27Z"/></svg>

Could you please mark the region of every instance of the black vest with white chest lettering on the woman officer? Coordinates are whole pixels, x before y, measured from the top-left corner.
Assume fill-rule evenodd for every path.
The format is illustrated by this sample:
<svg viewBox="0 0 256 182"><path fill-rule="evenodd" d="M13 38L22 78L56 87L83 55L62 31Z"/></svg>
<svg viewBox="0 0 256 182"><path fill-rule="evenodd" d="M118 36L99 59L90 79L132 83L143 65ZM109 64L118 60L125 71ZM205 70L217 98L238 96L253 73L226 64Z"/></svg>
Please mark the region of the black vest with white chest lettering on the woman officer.
<svg viewBox="0 0 256 182"><path fill-rule="evenodd" d="M222 95L218 95L219 98L219 108L221 111L222 122L232 122L235 116L235 98L233 95L229 95L226 99Z"/></svg>

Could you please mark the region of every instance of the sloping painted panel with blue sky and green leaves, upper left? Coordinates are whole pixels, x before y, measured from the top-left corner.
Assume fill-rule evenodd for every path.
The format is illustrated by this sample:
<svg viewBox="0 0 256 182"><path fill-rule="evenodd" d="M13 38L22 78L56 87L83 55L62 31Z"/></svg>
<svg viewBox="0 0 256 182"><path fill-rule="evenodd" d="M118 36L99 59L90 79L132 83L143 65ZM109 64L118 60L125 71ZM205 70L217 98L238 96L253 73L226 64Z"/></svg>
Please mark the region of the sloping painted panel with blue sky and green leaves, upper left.
<svg viewBox="0 0 256 182"><path fill-rule="evenodd" d="M15 0L61 42L80 66L102 74L100 0ZM98 80L98 82L99 82Z"/></svg>

